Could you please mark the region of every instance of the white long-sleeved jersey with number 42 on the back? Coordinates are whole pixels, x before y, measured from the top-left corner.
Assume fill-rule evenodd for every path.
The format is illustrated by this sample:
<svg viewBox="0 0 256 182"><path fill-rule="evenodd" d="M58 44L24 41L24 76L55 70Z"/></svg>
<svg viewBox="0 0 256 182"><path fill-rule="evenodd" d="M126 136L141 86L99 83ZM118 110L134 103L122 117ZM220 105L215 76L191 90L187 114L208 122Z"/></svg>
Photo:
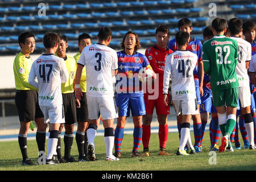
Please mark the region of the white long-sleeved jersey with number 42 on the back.
<svg viewBox="0 0 256 182"><path fill-rule="evenodd" d="M168 93L169 78L172 79L172 100L191 100L196 98L193 70L197 55L190 51L175 51L166 57L164 65L163 93Z"/></svg>

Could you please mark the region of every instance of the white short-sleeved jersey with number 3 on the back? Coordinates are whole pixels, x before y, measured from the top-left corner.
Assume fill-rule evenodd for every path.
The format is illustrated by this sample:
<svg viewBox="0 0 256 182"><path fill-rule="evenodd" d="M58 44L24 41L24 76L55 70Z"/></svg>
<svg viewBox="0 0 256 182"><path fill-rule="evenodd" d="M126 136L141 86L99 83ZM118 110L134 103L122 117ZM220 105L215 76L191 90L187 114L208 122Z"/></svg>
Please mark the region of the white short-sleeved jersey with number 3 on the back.
<svg viewBox="0 0 256 182"><path fill-rule="evenodd" d="M86 96L114 97L112 70L118 68L117 52L103 44L86 46L77 64L86 67Z"/></svg>

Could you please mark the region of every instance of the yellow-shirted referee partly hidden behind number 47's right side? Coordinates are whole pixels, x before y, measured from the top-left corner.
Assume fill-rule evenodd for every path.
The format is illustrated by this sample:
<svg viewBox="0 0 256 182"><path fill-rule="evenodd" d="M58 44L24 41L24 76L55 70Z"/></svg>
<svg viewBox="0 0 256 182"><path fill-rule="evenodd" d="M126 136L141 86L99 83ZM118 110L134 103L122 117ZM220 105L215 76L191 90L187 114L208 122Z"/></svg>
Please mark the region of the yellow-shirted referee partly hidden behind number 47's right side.
<svg viewBox="0 0 256 182"><path fill-rule="evenodd" d="M61 93L63 97L64 117L65 123L60 125L59 129L59 141L57 145L57 154L59 161L62 162L76 162L71 156L71 149L73 146L73 130L76 119L76 98L74 94L73 81L76 74L76 60L74 57L66 54L68 48L67 36L60 34L59 47L57 48L56 55L64 59L65 65L68 69L69 78L67 82L61 84ZM60 134L65 127L64 134L64 160L61 158L61 138Z"/></svg>

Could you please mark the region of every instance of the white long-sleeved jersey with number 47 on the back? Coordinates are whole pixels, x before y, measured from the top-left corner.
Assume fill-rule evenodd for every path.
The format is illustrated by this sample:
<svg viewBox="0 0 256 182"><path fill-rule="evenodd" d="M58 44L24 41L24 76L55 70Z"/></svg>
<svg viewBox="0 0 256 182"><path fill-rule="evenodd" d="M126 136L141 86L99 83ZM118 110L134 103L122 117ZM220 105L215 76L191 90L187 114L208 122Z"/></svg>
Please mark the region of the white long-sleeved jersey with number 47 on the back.
<svg viewBox="0 0 256 182"><path fill-rule="evenodd" d="M63 104L61 83L66 82L68 76L68 70L63 58L50 54L42 55L34 61L28 82L39 88L38 98L40 106Z"/></svg>

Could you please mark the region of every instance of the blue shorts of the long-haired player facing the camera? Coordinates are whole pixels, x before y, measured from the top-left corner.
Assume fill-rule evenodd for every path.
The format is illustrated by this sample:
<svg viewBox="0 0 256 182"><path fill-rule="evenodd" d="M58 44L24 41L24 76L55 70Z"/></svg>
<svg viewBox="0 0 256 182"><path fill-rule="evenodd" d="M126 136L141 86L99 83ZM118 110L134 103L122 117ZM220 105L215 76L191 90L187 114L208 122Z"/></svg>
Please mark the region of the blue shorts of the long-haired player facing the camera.
<svg viewBox="0 0 256 182"><path fill-rule="evenodd" d="M118 97L117 95L117 109L118 116L139 116L146 114L146 108L144 104L144 97Z"/></svg>

